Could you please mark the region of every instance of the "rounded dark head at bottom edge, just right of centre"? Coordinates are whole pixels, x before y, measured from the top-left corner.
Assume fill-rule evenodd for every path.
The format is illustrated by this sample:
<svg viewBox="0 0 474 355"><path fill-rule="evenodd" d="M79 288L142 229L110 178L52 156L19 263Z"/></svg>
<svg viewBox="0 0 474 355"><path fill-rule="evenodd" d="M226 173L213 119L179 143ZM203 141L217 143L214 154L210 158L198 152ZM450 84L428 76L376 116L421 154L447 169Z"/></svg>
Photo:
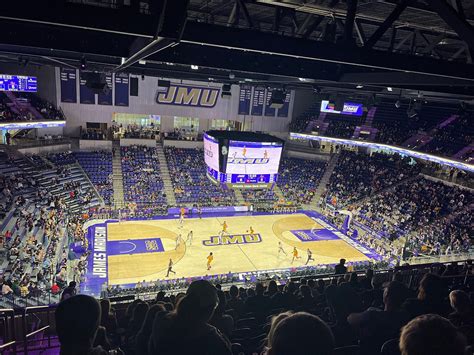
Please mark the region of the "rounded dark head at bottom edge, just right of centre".
<svg viewBox="0 0 474 355"><path fill-rule="evenodd" d="M319 317L305 312L278 322L268 339L267 355L330 355L334 350L331 329Z"/></svg>

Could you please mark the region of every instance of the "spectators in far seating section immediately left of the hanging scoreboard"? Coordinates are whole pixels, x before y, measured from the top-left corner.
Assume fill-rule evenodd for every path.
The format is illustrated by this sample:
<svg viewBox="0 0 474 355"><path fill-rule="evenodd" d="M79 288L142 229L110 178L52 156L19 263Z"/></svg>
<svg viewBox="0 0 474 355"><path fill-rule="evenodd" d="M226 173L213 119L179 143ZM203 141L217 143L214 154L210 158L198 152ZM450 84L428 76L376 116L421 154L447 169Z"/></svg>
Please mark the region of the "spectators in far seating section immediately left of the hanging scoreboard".
<svg viewBox="0 0 474 355"><path fill-rule="evenodd" d="M234 191L213 184L206 176L202 149L166 147L165 156L178 204L235 205Z"/></svg>

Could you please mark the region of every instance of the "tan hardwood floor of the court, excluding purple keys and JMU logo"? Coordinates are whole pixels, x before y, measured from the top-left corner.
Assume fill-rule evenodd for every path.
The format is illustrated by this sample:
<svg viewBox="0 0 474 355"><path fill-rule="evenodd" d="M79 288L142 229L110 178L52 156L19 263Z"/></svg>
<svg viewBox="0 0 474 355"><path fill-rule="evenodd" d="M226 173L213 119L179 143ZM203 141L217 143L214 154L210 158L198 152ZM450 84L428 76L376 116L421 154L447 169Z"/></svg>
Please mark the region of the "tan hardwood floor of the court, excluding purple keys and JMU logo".
<svg viewBox="0 0 474 355"><path fill-rule="evenodd" d="M226 221L230 235L245 234L252 226L260 234L261 242L205 246L203 240L217 236ZM305 214L276 214L246 217L186 218L182 228L177 219L143 220L109 223L108 241L161 238L164 251L141 254L108 256L109 284L130 284L138 281L165 279L169 258L173 259L172 278L203 276L230 272L246 272L303 266L306 250L313 252L314 261L309 265L334 264L340 258L347 261L369 260L342 239L302 242L291 230L324 229ZM181 243L175 250L178 234L186 240L192 230L191 245ZM281 241L287 255L278 253ZM300 259L292 263L292 250L296 247ZM206 257L214 254L212 269L207 271Z"/></svg>

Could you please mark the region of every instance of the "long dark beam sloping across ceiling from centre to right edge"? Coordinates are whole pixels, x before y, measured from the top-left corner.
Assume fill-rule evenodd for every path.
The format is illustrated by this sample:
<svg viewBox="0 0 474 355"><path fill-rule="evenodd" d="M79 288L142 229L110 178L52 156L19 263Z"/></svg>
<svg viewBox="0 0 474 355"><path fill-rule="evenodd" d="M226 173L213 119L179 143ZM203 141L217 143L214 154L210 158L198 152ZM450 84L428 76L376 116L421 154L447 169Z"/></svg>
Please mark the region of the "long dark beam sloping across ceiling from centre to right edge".
<svg viewBox="0 0 474 355"><path fill-rule="evenodd" d="M474 71L471 66L463 67L459 64L450 66L449 63L428 57L407 57L401 54L357 47L348 51L344 44L308 42L299 38L204 23L188 23L182 42L222 47L236 51L249 51L263 55L279 55L356 67L370 67L379 70L474 78ZM441 63L443 65L440 65Z"/></svg>

